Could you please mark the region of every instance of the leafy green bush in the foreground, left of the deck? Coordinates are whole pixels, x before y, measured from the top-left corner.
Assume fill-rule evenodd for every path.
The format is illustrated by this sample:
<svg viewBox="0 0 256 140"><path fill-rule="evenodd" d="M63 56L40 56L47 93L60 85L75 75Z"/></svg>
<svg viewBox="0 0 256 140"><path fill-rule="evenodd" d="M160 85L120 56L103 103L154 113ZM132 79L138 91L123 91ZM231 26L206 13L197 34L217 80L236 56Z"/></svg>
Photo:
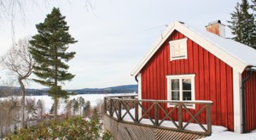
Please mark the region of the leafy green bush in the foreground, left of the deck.
<svg viewBox="0 0 256 140"><path fill-rule="evenodd" d="M20 129L15 134L9 134L6 139L83 139L111 140L113 135L110 132L102 132L102 124L94 120L84 120L76 117L68 120L49 120L38 126Z"/></svg>

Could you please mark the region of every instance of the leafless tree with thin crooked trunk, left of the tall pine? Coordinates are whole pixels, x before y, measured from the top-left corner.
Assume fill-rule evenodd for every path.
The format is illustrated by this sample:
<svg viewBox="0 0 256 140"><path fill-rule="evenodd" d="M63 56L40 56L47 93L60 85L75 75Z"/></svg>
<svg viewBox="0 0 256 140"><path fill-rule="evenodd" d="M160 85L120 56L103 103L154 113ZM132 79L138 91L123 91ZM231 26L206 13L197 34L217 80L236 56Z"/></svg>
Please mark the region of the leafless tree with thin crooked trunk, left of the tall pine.
<svg viewBox="0 0 256 140"><path fill-rule="evenodd" d="M21 99L21 127L25 126L25 85L28 77L32 74L34 61L28 52L30 46L28 39L22 39L17 44L13 44L3 57L1 57L3 68L9 70L11 76L15 76L20 84Z"/></svg>

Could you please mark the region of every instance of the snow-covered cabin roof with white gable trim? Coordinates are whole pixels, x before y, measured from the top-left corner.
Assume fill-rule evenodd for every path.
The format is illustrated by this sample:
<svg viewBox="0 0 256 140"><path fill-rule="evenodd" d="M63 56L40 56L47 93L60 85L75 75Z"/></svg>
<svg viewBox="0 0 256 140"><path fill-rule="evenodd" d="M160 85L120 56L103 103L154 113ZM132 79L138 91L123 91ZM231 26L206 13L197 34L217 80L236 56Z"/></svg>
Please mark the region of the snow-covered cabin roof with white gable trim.
<svg viewBox="0 0 256 140"><path fill-rule="evenodd" d="M240 73L247 66L256 66L256 50L253 48L240 42L215 35L206 30L174 21L168 25L163 35L160 36L143 60L131 72L131 76L137 76L139 71L143 69L143 66L148 63L148 60L151 59L154 53L166 41L167 37L175 30L181 32L202 48L207 49L208 52L218 57L218 59L223 60Z"/></svg>

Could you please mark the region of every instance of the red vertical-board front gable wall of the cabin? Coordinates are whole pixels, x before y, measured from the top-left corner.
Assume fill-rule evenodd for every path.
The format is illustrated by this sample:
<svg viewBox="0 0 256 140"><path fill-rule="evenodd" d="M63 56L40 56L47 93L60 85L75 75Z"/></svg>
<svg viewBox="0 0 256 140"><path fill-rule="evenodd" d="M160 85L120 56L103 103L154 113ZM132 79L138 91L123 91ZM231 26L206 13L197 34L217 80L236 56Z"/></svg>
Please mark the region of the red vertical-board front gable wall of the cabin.
<svg viewBox="0 0 256 140"><path fill-rule="evenodd" d="M140 71L143 99L167 99L168 75L195 74L195 100L212 100L212 125L225 126L233 131L233 74L232 68L196 42L188 38L188 59L170 61L169 42L186 36L174 31ZM143 104L149 108L151 104ZM200 105L191 111L197 112ZM166 105L165 108L167 109ZM169 108L170 110L172 108ZM154 118L154 109L150 112ZM160 111L160 118L164 116ZM177 116L174 112L172 116ZM183 115L189 120L189 115ZM173 118L177 120L177 117ZM206 122L206 114L198 116Z"/></svg>

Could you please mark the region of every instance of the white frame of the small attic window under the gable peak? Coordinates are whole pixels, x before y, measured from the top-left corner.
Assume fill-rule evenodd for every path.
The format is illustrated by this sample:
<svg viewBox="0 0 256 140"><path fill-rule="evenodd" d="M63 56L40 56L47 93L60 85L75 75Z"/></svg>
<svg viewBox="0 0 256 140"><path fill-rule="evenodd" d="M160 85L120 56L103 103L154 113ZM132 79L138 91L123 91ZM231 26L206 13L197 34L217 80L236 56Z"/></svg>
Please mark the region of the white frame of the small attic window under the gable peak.
<svg viewBox="0 0 256 140"><path fill-rule="evenodd" d="M170 59L172 60L176 60L176 59L188 59L188 45L187 45L187 41L188 38L183 38L183 39L179 39L179 40L175 40L175 41L170 41ZM184 55L182 56L176 56L174 57L174 46L178 45L178 44L183 44L184 46Z"/></svg>

